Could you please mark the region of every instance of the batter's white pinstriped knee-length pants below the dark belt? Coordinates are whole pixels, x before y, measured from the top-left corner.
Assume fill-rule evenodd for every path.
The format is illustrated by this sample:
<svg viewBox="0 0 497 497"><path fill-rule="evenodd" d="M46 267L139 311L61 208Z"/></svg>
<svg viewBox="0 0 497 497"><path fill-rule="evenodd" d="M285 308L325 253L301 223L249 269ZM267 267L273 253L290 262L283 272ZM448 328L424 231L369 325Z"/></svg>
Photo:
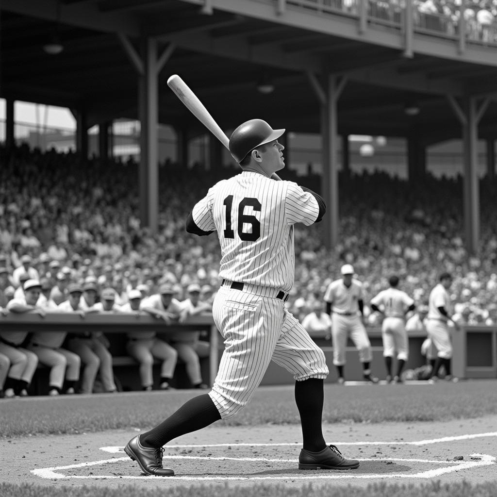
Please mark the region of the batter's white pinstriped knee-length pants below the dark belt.
<svg viewBox="0 0 497 497"><path fill-rule="evenodd" d="M250 402L271 360L297 381L328 376L325 354L282 300L222 286L212 312L225 344L209 392L221 418Z"/></svg>

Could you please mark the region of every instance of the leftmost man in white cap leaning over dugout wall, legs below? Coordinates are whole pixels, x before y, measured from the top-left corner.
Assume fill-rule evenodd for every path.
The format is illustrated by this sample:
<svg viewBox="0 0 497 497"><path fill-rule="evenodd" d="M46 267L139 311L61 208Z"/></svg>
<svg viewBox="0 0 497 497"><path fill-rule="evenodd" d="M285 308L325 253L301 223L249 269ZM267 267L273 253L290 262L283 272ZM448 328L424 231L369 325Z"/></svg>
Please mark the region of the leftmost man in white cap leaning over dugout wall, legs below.
<svg viewBox="0 0 497 497"><path fill-rule="evenodd" d="M12 299L7 310L13 313L36 313L45 316L45 310L37 305L41 285L37 280L24 283L24 296ZM0 353L10 360L10 369L5 380L5 397L19 395L25 397L33 379L38 357L22 346L28 335L27 331L0 331Z"/></svg>

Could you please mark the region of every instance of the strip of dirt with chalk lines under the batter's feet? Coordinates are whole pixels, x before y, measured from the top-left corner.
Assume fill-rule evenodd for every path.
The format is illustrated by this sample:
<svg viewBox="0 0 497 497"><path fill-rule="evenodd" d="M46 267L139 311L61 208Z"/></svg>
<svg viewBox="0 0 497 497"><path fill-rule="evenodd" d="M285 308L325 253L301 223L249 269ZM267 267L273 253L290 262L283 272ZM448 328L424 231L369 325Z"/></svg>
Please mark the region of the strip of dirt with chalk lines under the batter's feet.
<svg viewBox="0 0 497 497"><path fill-rule="evenodd" d="M255 482L301 487L378 481L497 481L495 416L430 423L325 425L328 443L361 460L357 470L300 471L301 432L295 425L220 428L190 433L166 446L172 478L145 477L123 452L135 430L2 440L0 480L40 485L178 485Z"/></svg>

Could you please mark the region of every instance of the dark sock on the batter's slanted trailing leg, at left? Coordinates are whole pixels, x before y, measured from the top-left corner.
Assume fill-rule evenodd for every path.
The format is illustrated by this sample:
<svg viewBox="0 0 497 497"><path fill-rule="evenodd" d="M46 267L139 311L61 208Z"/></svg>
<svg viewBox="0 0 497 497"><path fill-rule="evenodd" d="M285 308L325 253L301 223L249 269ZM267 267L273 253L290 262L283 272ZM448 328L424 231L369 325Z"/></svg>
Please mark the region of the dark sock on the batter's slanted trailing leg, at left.
<svg viewBox="0 0 497 497"><path fill-rule="evenodd" d="M184 403L161 424L140 435L140 443L145 447L162 447L169 440L205 428L218 419L221 414L209 395L199 395Z"/></svg>

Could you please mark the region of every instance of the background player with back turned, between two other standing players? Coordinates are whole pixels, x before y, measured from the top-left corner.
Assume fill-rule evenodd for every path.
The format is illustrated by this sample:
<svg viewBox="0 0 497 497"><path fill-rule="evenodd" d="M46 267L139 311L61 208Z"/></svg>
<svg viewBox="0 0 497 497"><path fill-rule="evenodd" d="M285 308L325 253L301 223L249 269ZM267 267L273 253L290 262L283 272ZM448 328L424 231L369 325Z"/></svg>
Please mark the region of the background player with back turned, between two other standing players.
<svg viewBox="0 0 497 497"><path fill-rule="evenodd" d="M397 353L397 370L395 383L402 383L401 375L404 365L409 358L409 340L406 331L406 314L414 311L414 300L397 288L398 276L388 279L390 288L381 291L371 300L371 309L385 316L381 325L383 340L383 357L387 368L387 383L392 381L392 359Z"/></svg>

